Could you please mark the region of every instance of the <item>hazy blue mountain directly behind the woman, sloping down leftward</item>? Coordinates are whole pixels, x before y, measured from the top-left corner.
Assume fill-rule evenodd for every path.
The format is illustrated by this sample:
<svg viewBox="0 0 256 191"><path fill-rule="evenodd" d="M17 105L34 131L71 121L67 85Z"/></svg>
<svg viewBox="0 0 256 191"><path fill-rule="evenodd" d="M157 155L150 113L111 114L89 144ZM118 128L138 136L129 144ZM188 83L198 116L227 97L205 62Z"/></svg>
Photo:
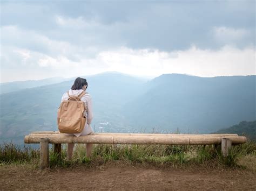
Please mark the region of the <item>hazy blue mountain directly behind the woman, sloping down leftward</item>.
<svg viewBox="0 0 256 191"><path fill-rule="evenodd" d="M87 91L92 95L95 118L92 127L98 130L127 132L120 114L124 103L136 97L145 80L120 73L103 73L86 77ZM23 89L0 95L0 139L23 143L31 131L57 130L57 109L61 97L73 80L47 86Z"/></svg>

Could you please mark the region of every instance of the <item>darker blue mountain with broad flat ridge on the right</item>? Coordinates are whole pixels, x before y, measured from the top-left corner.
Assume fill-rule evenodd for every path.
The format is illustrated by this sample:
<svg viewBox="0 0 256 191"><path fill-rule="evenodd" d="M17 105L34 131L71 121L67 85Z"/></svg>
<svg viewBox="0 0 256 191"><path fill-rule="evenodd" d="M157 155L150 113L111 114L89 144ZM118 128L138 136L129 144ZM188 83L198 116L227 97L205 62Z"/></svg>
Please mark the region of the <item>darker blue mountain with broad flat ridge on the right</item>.
<svg viewBox="0 0 256 191"><path fill-rule="evenodd" d="M131 126L202 132L255 117L256 76L197 77L163 74L144 84L125 106Z"/></svg>

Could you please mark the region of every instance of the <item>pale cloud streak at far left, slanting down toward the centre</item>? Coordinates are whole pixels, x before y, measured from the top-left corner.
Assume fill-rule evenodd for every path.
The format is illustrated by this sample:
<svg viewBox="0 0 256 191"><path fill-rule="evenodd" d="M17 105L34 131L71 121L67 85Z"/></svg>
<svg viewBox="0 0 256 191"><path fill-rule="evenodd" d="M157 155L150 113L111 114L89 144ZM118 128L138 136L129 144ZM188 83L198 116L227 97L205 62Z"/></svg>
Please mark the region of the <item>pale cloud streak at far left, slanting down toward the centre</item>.
<svg viewBox="0 0 256 191"><path fill-rule="evenodd" d="M77 61L80 55L95 54L97 48L81 47L69 41L50 39L49 37L31 30L24 30L16 25L6 25L0 28L2 46L12 46L15 49L46 54L49 56L65 55L69 60Z"/></svg>

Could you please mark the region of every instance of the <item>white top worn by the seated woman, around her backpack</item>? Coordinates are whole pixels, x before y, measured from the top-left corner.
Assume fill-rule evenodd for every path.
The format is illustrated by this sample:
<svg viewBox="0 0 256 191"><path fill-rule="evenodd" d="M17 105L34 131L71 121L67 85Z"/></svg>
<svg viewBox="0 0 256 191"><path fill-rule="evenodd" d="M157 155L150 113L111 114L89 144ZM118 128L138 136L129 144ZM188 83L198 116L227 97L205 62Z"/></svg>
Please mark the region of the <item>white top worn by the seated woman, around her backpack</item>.
<svg viewBox="0 0 256 191"><path fill-rule="evenodd" d="M84 90L83 89L78 89L78 90L69 90L69 95L70 96L78 96L79 94L81 94ZM62 101L64 100L68 100L69 98L68 93L64 93L62 96ZM86 93L85 95L83 95L83 97L81 97L81 101L83 101L85 103L85 105L87 105L87 111L84 114L85 117L87 118L87 121L85 123L84 129L82 132L80 133L72 133L70 135L75 135L77 137L79 137L80 135L89 135L90 133L93 132L92 128L91 128L91 122L92 122L92 118L93 118L93 112L92 112L92 97L90 94Z"/></svg>

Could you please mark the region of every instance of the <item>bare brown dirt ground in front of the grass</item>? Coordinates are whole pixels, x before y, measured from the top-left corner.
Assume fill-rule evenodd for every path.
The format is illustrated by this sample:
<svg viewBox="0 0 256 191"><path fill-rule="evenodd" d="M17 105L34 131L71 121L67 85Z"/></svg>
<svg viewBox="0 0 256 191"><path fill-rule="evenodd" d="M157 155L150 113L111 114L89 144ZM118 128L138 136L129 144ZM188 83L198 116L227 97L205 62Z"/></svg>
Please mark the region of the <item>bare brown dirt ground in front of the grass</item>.
<svg viewBox="0 0 256 191"><path fill-rule="evenodd" d="M256 190L256 173L231 169L131 165L84 166L43 171L19 166L0 166L0 189Z"/></svg>

